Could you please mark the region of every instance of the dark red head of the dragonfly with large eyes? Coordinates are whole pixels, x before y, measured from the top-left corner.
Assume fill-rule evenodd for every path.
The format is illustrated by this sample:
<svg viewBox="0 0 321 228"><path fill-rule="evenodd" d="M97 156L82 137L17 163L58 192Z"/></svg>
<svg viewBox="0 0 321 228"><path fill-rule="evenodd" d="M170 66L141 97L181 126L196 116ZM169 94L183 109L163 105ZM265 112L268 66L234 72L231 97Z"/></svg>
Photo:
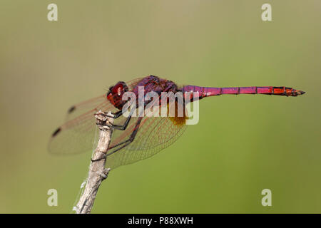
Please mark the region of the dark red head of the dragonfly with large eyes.
<svg viewBox="0 0 321 228"><path fill-rule="evenodd" d="M107 99L115 106L121 110L123 105L126 104L127 100L122 100L123 94L128 91L128 86L123 81L119 81L115 86L111 86L107 93Z"/></svg>

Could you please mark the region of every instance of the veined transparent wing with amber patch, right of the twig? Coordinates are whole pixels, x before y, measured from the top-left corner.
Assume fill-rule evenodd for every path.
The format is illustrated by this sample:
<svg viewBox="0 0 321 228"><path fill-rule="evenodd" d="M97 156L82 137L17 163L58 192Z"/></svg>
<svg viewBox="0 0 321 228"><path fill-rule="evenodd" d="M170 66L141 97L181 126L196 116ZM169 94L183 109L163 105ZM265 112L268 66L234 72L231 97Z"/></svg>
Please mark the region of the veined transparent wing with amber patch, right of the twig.
<svg viewBox="0 0 321 228"><path fill-rule="evenodd" d="M135 123L136 121L133 121L128 126L129 133L133 132ZM168 117L145 117L139 125L138 133L133 142L122 150L109 155L106 160L106 167L115 169L118 166L128 165L156 155L165 147L173 144L183 134L186 127L187 125L178 124ZM111 141L111 146L126 140L128 136L128 133L123 132L116 140Z"/></svg>

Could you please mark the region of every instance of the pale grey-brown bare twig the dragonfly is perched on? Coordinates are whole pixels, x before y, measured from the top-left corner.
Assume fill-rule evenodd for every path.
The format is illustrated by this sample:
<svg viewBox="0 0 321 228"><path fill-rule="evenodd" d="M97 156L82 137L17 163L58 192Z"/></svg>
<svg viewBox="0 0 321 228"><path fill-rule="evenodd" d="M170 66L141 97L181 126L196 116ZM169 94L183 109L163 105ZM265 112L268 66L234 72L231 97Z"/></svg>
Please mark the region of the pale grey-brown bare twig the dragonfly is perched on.
<svg viewBox="0 0 321 228"><path fill-rule="evenodd" d="M113 124L113 118L109 116L112 116L110 112L103 113L102 111L99 111L95 114L96 123L99 128L98 145L93 157L91 158L91 165L89 167L85 190L83 190L83 194L76 205L76 214L91 213L98 188L101 185L101 182L108 176L110 169L105 168L106 152L108 150L112 134L112 129L109 128L108 125Z"/></svg>

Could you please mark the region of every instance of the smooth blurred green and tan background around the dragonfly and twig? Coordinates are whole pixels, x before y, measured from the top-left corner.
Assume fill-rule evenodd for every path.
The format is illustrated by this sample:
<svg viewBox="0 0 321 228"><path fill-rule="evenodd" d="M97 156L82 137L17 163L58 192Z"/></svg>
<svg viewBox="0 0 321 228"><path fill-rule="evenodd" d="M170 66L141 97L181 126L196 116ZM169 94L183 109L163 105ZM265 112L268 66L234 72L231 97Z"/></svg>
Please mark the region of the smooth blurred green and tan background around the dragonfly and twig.
<svg viewBox="0 0 321 228"><path fill-rule="evenodd" d="M58 5L58 21L47 6ZM272 5L272 21L261 6ZM200 122L119 167L94 213L321 212L321 1L9 1L0 7L0 212L68 213L91 152L46 150L66 110L150 74L197 86L290 86L297 98L200 101ZM47 191L58 190L58 207ZM272 190L272 207L261 191Z"/></svg>

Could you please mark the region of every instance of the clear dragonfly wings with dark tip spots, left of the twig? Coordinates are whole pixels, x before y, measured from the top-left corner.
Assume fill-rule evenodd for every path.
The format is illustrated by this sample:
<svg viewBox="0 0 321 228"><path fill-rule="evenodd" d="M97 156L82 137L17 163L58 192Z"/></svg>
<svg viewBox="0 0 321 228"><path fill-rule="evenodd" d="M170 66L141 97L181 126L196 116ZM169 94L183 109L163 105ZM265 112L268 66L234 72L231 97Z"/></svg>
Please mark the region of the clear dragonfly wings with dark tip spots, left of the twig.
<svg viewBox="0 0 321 228"><path fill-rule="evenodd" d="M136 78L127 83L131 90L141 78ZM96 127L95 113L111 111L116 113L118 109L106 99L106 93L96 98L83 101L69 108L66 123L61 125L51 136L48 150L53 154L76 154L96 148L98 128ZM123 121L123 118L119 118Z"/></svg>

